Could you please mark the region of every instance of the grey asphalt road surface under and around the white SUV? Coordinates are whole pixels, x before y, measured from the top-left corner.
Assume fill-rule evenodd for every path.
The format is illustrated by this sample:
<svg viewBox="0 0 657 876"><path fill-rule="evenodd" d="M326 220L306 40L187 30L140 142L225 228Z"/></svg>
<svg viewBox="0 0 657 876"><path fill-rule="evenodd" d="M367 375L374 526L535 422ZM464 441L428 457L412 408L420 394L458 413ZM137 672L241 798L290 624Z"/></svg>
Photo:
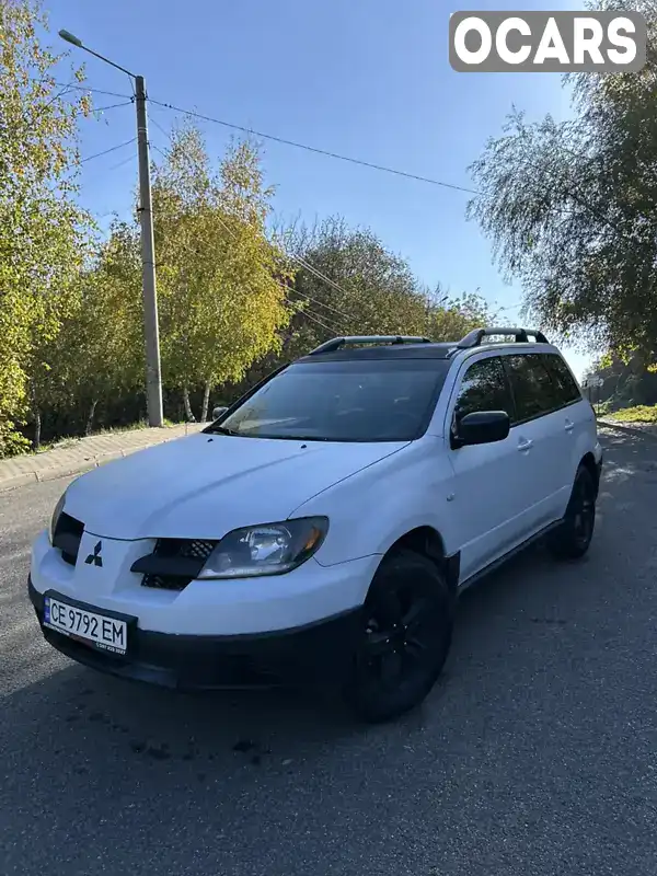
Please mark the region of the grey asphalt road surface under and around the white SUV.
<svg viewBox="0 0 657 876"><path fill-rule="evenodd" d="M66 481L0 496L0 873L655 876L657 442L604 443L588 557L469 591L441 683L376 728L59 656L25 579Z"/></svg>

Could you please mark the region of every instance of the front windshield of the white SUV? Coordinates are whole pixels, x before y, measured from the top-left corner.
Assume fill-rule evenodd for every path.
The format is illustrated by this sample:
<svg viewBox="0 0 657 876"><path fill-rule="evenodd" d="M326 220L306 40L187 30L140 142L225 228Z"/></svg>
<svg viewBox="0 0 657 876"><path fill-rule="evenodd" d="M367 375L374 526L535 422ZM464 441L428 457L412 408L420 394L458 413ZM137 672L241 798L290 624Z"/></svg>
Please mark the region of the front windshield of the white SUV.
<svg viewBox="0 0 657 876"><path fill-rule="evenodd" d="M249 438L408 441L442 387L445 359L297 362L210 430Z"/></svg>

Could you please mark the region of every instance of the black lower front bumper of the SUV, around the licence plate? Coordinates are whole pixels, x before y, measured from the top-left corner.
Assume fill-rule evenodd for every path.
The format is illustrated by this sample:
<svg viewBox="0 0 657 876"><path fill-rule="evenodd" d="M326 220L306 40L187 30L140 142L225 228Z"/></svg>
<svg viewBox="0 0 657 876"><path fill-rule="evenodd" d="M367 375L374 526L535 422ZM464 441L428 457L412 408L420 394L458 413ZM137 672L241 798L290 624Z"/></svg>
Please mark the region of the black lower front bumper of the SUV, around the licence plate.
<svg viewBox="0 0 657 876"><path fill-rule="evenodd" d="M334 684L350 666L360 609L274 633L175 635L134 629L118 656L43 626L44 596L27 584L46 641L84 666L119 678L181 690Z"/></svg>

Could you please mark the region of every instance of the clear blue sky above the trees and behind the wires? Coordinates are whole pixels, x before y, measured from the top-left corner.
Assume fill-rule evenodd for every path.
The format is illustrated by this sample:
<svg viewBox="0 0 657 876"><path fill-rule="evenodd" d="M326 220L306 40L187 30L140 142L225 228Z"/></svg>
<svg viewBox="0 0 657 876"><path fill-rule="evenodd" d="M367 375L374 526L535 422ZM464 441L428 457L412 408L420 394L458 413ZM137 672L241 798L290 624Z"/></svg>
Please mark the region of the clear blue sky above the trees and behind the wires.
<svg viewBox="0 0 657 876"><path fill-rule="evenodd" d="M46 0L53 41L66 28L95 51L146 78L150 97L308 146L472 187L469 164L499 136L512 106L529 120L567 118L568 92L556 73L457 73L448 60L450 12L541 9L507 0ZM550 8L584 3L551 0ZM71 49L91 88L131 94L128 78ZM96 107L120 97L94 96ZM176 115L149 105L150 140L166 145ZM200 123L220 158L234 132ZM135 136L132 105L82 124L89 158ZM462 192L263 141L267 182L284 219L312 223L343 216L367 226L408 260L427 285L453 295L479 290L504 321L522 301L492 262L489 242L465 219ZM130 210L135 143L83 163L84 206L102 221ZM500 316L502 320L502 316ZM540 326L531 326L540 327ZM581 377L589 357L564 350Z"/></svg>

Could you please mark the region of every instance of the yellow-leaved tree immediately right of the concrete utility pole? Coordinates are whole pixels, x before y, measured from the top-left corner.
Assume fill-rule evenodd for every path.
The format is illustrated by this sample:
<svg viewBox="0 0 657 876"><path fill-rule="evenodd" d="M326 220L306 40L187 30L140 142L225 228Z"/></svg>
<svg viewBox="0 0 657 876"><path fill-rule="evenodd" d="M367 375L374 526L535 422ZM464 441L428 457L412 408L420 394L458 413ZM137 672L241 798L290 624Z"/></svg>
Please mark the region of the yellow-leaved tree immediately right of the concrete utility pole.
<svg viewBox="0 0 657 876"><path fill-rule="evenodd" d="M163 371L188 417L191 387L205 387L205 419L211 389L240 380L289 320L287 261L265 230L270 196L250 142L233 145L215 173L192 126L174 131L154 169Z"/></svg>

